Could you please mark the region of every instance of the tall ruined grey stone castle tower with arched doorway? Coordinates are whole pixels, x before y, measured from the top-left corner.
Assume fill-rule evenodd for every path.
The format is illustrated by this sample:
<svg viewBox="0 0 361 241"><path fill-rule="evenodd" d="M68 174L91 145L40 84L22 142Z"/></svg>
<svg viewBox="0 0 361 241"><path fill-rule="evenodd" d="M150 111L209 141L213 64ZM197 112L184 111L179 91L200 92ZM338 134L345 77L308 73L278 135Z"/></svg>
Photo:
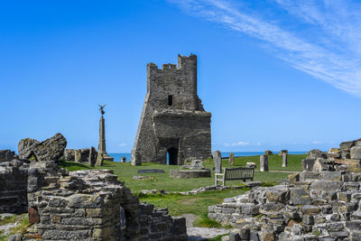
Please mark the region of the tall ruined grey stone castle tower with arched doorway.
<svg viewBox="0 0 361 241"><path fill-rule="evenodd" d="M197 95L197 56L178 55L162 70L147 65L147 94L132 163L181 165L210 157L210 116Z"/></svg>

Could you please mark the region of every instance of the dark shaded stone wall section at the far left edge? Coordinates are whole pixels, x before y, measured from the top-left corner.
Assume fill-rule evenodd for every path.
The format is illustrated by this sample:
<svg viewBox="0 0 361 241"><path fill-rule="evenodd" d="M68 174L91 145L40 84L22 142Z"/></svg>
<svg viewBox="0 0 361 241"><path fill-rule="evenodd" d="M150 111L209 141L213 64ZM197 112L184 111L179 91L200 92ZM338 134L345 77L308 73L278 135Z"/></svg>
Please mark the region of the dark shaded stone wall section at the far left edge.
<svg viewBox="0 0 361 241"><path fill-rule="evenodd" d="M28 164L19 160L0 162L0 213L27 211Z"/></svg>

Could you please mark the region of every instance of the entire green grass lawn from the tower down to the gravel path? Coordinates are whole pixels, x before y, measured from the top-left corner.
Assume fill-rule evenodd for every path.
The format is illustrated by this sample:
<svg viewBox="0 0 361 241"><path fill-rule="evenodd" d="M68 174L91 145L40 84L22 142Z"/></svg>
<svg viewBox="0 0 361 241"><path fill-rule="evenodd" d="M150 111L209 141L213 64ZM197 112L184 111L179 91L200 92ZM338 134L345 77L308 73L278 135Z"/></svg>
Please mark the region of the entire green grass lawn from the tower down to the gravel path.
<svg viewBox="0 0 361 241"><path fill-rule="evenodd" d="M282 157L278 155L269 155L270 171L301 171L301 160L306 155L289 155L288 167L282 168ZM255 162L256 170L259 170L259 155L236 157L235 165L245 166L246 162ZM213 160L208 159L203 162L206 168L213 170ZM223 167L228 167L228 161L222 161ZM63 162L62 167L69 171L83 169L93 169L87 164L79 162ZM168 190L168 191L185 191L199 187L214 185L214 171L211 178L199 179L171 179L169 172L171 169L180 169L180 166L170 166L155 163L143 163L142 166L132 166L129 162L105 162L103 166L97 166L96 169L113 170L120 181L125 181L125 186L137 194L140 190ZM141 169L162 169L165 173L144 173L138 174ZM290 173L287 172L269 172L255 171L255 181L280 181L286 179ZM134 175L152 176L152 181L134 181ZM227 186L239 186L243 181L227 181ZM200 227L220 227L220 225L207 218L208 206L221 203L223 199L234 197L245 192L243 189L231 189L221 191L208 191L197 195L141 195L140 199L148 203L153 203L157 209L168 208L172 216L191 213L199 216L196 225Z"/></svg>

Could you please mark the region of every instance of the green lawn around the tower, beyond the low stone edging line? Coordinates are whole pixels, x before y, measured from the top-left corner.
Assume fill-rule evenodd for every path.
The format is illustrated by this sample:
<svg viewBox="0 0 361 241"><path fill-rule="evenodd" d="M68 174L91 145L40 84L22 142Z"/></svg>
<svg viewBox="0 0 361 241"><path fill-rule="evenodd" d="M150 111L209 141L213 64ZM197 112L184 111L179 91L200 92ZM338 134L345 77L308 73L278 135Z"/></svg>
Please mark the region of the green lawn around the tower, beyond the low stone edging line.
<svg viewBox="0 0 361 241"><path fill-rule="evenodd" d="M305 155L289 155L288 167L282 168L282 157L278 155L270 155L269 157L270 171L301 171L301 159ZM259 169L259 156L245 156L235 158L236 166L245 166L245 162L255 162L257 170ZM204 166L213 169L213 160L206 160ZM228 167L227 160L222 161L223 167ZM82 169L91 169L89 165L79 162L63 162L62 167L67 168L69 171L77 171ZM214 171L212 171L211 178L199 179L171 179L169 172L171 169L180 169L180 166L162 165L155 163L143 163L142 166L132 166L129 162L105 162L103 166L97 166L96 169L109 169L119 177L120 181L125 181L125 186L130 188L133 192L140 190L168 190L168 191L185 191L192 190L199 187L214 185ZM138 174L137 171L141 169L162 169L165 173L145 173ZM134 175L152 176L152 181L134 181ZM289 173L285 172L260 172L255 171L255 181L280 181L286 179ZM243 181L227 181L227 185L239 185Z"/></svg>

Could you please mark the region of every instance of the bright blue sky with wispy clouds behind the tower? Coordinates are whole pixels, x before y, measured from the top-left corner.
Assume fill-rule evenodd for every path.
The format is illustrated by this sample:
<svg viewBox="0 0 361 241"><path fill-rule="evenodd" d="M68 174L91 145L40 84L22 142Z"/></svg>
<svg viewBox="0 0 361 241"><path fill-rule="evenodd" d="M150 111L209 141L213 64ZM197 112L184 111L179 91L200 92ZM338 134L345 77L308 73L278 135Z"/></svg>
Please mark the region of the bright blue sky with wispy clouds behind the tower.
<svg viewBox="0 0 361 241"><path fill-rule="evenodd" d="M58 132L128 153L146 64L198 55L213 149L326 150L361 137L361 5L353 1L2 1L0 149Z"/></svg>

